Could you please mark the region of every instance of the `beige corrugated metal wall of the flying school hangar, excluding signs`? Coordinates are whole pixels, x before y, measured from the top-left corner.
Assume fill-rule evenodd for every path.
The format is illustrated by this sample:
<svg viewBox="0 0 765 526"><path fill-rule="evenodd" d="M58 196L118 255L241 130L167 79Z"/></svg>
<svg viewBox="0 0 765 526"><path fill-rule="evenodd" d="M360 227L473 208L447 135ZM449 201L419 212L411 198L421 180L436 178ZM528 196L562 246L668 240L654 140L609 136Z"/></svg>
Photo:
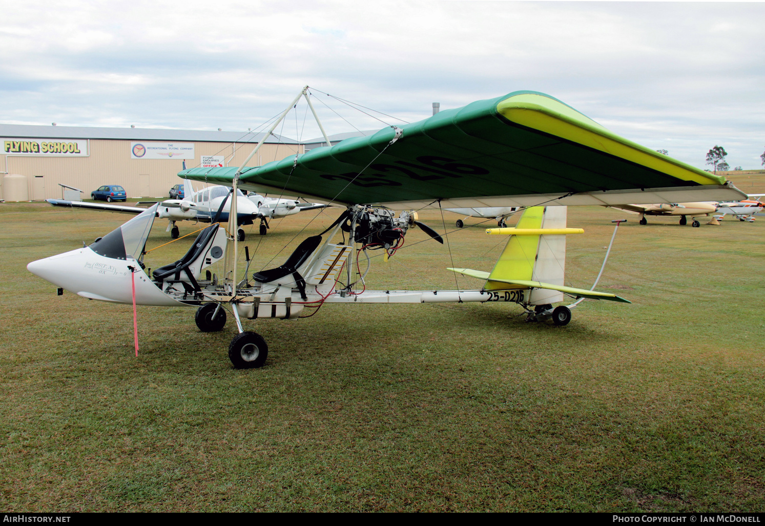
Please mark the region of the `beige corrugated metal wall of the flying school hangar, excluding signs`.
<svg viewBox="0 0 765 526"><path fill-rule="evenodd" d="M130 158L130 143L129 140L90 139L89 157L8 155L6 158L6 155L0 155L0 171L5 171L7 162L8 173L25 175L29 195L34 199L42 196L46 199L62 198L59 183L80 188L85 199L90 199L90 192L101 185L122 185L129 198L167 198L170 188L182 181L177 172L183 169L183 161L177 158ZM186 167L199 165L201 155L223 155L229 166L239 166L255 146L252 143L236 144L236 154L229 160L234 152L230 142L194 142L195 158L187 159ZM298 153L302 153L302 145L264 144L249 165L262 165L295 155L298 148ZM36 177L40 175L43 177Z"/></svg>

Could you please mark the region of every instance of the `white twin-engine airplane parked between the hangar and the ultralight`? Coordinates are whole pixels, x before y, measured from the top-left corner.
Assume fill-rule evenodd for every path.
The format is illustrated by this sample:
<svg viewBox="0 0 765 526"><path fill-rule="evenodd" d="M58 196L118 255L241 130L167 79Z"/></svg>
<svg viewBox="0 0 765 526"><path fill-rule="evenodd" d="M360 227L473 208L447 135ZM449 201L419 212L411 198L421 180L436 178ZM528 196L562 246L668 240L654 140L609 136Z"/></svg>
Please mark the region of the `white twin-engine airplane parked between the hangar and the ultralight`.
<svg viewBox="0 0 765 526"><path fill-rule="evenodd" d="M180 235L176 221L193 220L210 223L213 219L221 222L229 221L229 211L231 203L228 201L228 195L231 188L225 186L210 186L194 191L190 181L184 180L184 194L187 197L183 199L167 199L161 201L157 210L157 217L168 220L168 229L170 236L177 239ZM237 191L241 199L237 207L237 224L252 224L254 221L260 221L260 234L265 235L269 228L269 219L274 217L285 217L297 214L299 211L313 210L323 208L325 204L301 203L294 199L285 198L266 198L260 194L249 194L246 199L241 190ZM91 210L124 212L126 214L142 214L146 211L144 207L132 207L119 204L99 204L86 203L83 201L64 201L62 199L47 199L48 203L54 206L90 208ZM140 203L139 203L140 204ZM147 204L147 203L143 203ZM154 204L151 202L151 204ZM220 214L219 214L220 211ZM245 232L242 228L237 230L239 241L245 240Z"/></svg>

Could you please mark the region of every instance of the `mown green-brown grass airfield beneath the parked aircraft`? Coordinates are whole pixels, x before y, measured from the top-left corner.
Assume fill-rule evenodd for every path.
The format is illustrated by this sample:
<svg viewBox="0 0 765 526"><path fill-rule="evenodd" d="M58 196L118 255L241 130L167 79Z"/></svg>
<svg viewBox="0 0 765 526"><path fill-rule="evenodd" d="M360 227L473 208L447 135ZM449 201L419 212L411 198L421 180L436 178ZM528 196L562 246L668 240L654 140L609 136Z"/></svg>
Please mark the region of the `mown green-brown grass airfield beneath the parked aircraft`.
<svg viewBox="0 0 765 526"><path fill-rule="evenodd" d="M246 322L269 361L237 371L230 315L200 333L194 309L139 307L135 358L128 305L56 296L27 272L129 216L2 204L0 217L6 511L762 511L765 221L641 227L570 207L585 230L568 238L572 286L591 286L610 219L630 219L598 288L632 305L585 300L564 328L508 305L327 305ZM311 217L250 231L252 270L281 264ZM444 230L438 211L421 219ZM451 234L451 258L411 230L369 286L451 289L447 266L490 270L504 240L486 226Z"/></svg>

